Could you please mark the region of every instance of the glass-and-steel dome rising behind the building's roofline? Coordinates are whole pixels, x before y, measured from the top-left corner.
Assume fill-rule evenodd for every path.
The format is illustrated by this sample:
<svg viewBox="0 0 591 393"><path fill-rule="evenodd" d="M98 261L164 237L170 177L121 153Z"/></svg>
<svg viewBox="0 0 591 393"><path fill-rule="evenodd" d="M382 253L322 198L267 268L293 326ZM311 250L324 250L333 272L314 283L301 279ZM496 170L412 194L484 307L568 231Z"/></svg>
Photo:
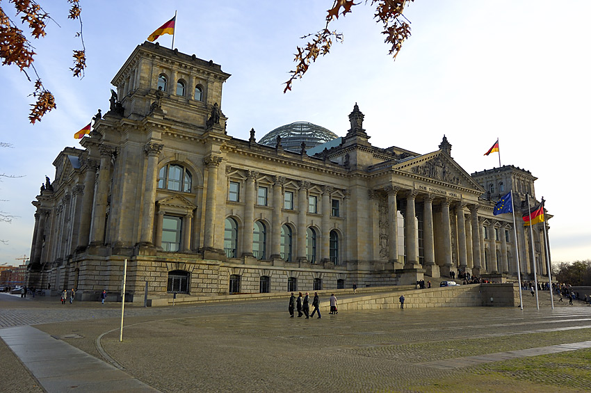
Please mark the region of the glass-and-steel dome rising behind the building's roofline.
<svg viewBox="0 0 591 393"><path fill-rule="evenodd" d="M289 125L282 125L273 131L263 136L259 143L261 145L273 146L277 144L277 136L281 137L281 145L285 150L292 152L300 152L302 149L302 142L306 144L306 148L322 145L335 138L339 138L337 134L314 125L309 122L295 122Z"/></svg>

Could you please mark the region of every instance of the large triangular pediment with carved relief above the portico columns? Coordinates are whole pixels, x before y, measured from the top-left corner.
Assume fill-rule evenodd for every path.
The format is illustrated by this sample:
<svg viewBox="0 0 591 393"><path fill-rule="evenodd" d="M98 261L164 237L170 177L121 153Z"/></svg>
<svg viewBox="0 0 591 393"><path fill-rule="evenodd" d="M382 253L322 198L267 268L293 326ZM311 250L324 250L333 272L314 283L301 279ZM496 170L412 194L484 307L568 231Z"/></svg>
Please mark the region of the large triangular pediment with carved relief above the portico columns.
<svg viewBox="0 0 591 393"><path fill-rule="evenodd" d="M393 168L437 182L453 184L454 186L474 189L479 192L485 191L480 184L472 179L469 173L442 150L423 154L419 157L412 157L396 164Z"/></svg>

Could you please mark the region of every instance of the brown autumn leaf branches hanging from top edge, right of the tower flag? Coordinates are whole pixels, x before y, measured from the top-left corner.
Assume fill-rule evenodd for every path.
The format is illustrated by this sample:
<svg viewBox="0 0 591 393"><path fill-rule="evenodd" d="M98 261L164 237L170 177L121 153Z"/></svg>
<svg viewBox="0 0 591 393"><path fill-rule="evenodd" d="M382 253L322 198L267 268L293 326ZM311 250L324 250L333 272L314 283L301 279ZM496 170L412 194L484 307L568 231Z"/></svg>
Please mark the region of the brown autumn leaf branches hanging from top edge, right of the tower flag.
<svg viewBox="0 0 591 393"><path fill-rule="evenodd" d="M414 0L365 0L365 3L369 3L372 8L375 7L375 14L373 17L377 23L384 25L382 34L386 35L384 42L390 45L389 54L394 57L400 51L403 42L410 37L410 22L403 15L403 10L407 4ZM361 2L359 2L361 3ZM359 3L353 3L353 0L333 0L332 8L327 10L326 24L324 29L321 29L317 33L307 34L301 37L302 39L312 37L311 41L307 42L305 47L296 47L297 53L295 54L295 70L291 70L289 73L291 77L285 82L285 89L291 90L291 83L294 79L301 79L307 72L311 63L314 63L318 56L325 56L330 52L332 47L332 40L335 42L343 41L343 34L337 31L330 31L328 25L334 19L339 19L339 15L343 17L352 12L353 6L358 6Z"/></svg>

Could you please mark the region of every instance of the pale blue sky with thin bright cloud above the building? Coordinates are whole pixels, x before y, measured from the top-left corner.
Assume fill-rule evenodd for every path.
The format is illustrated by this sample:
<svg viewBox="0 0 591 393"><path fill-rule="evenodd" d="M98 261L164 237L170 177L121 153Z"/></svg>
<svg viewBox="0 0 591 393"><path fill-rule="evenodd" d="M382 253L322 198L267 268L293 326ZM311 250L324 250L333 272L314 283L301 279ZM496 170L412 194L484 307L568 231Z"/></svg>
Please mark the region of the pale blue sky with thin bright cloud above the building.
<svg viewBox="0 0 591 393"><path fill-rule="evenodd" d="M7 1L1 1L5 10ZM343 44L321 58L293 91L283 94L299 37L323 28L332 1L82 1L86 76L71 77L77 22L66 1L44 1L59 23L36 40L35 61L58 109L29 125L33 86L15 67L0 67L0 211L18 216L0 223L0 264L29 256L35 213L31 201L52 162L66 146L80 147L74 132L108 110L111 79L131 51L175 15L175 47L222 65L222 111L228 134L261 138L271 129L309 121L339 136L349 128L355 102L378 147L418 153L437 150L444 134L452 156L473 173L499 165L483 154L500 140L501 164L538 177L536 196L547 200L553 262L591 258L591 229L581 207L590 195L587 154L591 2L416 0L405 15L412 37L396 62L387 55L369 6L332 26ZM13 15L10 15L13 17ZM13 18L15 20L17 18ZM170 47L172 36L158 42Z"/></svg>

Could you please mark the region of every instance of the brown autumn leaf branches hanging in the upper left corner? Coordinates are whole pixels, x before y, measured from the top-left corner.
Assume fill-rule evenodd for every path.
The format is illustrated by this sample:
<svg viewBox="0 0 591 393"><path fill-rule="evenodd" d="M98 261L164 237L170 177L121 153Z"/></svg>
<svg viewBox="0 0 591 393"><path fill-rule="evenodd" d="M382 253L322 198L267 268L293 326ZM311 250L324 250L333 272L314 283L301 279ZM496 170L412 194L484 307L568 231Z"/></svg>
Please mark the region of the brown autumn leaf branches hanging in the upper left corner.
<svg viewBox="0 0 591 393"><path fill-rule="evenodd" d="M83 77L84 68L86 68L86 49L84 47L84 40L82 38L82 19L80 1L66 0L70 3L70 15L68 19L78 19L80 22L80 31L76 33L82 42L82 49L74 50L74 66L70 68L74 77ZM29 114L29 120L35 124L40 121L43 115L52 109L56 109L56 99L53 94L46 88L33 62L35 58L34 47L31 45L31 39L27 38L20 27L29 29L29 34L32 38L38 39L44 37L45 22L48 19L53 20L48 13L46 13L38 2L34 0L10 0L15 10L15 16L20 18L19 24L13 22L6 14L3 7L0 6L0 59L2 65L16 65L24 72L26 79L31 80L28 72L35 74L35 90L31 95L37 99L35 104L31 104L33 108ZM55 22L55 21L54 21Z"/></svg>

